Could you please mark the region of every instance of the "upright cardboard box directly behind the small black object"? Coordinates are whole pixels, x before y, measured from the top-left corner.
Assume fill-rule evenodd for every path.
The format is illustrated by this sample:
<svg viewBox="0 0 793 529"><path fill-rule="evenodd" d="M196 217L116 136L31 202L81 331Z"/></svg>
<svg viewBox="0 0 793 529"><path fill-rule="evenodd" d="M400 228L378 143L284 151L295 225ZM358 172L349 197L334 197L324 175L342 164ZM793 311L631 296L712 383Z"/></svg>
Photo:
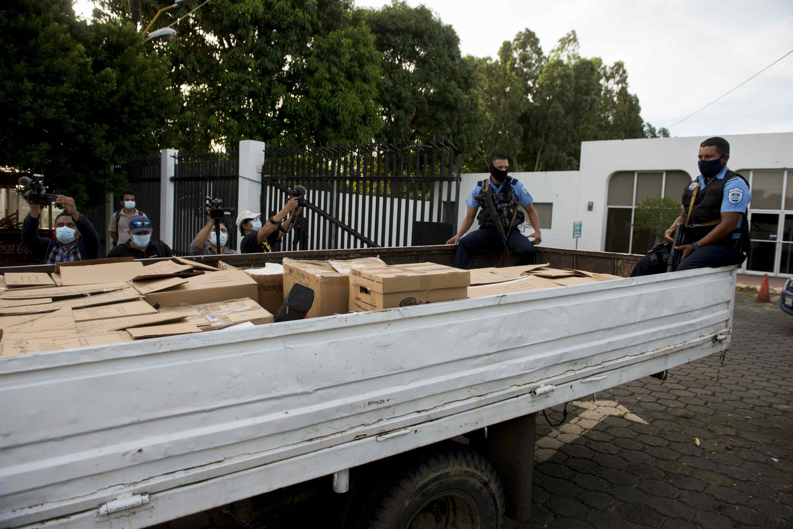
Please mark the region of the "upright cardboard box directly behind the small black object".
<svg viewBox="0 0 793 529"><path fill-rule="evenodd" d="M295 284L314 291L314 303L305 315L306 318L349 312L349 276L336 272L328 261L294 261L285 258L283 280L281 301L286 299Z"/></svg>

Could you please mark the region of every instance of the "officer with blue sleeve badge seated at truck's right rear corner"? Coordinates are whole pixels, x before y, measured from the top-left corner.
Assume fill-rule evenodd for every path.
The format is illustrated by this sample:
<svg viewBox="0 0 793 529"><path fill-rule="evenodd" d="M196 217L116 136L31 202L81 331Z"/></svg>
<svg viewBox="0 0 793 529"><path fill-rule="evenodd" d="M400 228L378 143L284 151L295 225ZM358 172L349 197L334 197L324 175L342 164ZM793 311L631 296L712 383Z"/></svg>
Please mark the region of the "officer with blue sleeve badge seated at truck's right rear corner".
<svg viewBox="0 0 793 529"><path fill-rule="evenodd" d="M688 244L675 247L676 251L683 252L678 271L740 265L746 259L749 245L746 207L752 194L745 178L727 167L729 159L730 143L726 139L708 138L699 145L702 174L685 188L681 199L683 211L665 233L666 240L674 242L676 226L686 222L691 198L696 192L691 217L685 227ZM630 276L666 272L666 263L653 257L642 257Z"/></svg>

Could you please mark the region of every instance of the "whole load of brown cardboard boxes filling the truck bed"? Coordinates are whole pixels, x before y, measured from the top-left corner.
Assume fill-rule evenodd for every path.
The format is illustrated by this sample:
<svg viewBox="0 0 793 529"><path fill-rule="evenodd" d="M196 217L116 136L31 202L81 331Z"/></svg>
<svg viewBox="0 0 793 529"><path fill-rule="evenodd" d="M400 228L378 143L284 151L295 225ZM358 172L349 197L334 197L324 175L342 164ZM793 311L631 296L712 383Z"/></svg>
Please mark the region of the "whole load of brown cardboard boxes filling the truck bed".
<svg viewBox="0 0 793 529"><path fill-rule="evenodd" d="M0 356L267 324L295 284L314 291L306 318L317 318L615 279L548 263L468 271L376 257L251 269L179 257L61 263L0 276Z"/></svg>

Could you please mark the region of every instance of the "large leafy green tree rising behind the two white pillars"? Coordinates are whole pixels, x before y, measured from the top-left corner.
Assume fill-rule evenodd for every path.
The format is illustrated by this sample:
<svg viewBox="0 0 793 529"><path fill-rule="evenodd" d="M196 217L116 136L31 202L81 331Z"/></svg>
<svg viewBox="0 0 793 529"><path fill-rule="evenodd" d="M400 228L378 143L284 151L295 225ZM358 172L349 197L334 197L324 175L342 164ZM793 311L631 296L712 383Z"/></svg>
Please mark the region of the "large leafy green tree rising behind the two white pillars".
<svg viewBox="0 0 793 529"><path fill-rule="evenodd" d="M164 0L141 2L142 23ZM126 0L105 0L129 17ZM170 10L155 28L186 13ZM377 108L380 55L349 0L213 0L151 53L171 63L184 108L174 116L177 147L207 149L240 139L366 141L382 127Z"/></svg>

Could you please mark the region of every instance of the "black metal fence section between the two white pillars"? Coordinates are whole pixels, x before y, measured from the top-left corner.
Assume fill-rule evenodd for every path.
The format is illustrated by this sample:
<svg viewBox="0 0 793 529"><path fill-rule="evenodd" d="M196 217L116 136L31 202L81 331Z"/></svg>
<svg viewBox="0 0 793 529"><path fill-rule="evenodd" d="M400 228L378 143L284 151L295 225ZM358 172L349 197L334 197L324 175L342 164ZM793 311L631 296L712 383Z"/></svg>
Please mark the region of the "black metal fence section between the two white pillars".
<svg viewBox="0 0 793 529"><path fill-rule="evenodd" d="M176 155L174 169L174 244L176 255L190 255L190 242L206 224L204 204L207 196L223 200L224 207L233 207L235 215L228 219L230 248L238 248L236 230L237 192L239 186L239 151L182 153Z"/></svg>

